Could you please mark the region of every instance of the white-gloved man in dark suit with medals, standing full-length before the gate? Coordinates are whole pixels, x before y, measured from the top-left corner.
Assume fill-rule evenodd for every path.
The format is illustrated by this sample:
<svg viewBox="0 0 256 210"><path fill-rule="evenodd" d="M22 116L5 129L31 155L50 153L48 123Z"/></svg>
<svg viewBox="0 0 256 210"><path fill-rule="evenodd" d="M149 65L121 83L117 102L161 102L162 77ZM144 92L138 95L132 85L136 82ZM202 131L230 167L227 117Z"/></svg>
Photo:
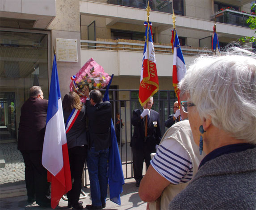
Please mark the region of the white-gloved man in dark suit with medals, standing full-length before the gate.
<svg viewBox="0 0 256 210"><path fill-rule="evenodd" d="M142 179L143 162L147 168L150 165L151 153L155 153L155 147L161 140L159 113L152 110L153 97L143 106L143 109L133 111L131 123L134 133L130 142L133 153L133 170L136 186L139 187ZM147 121L147 136L145 137L145 118Z"/></svg>

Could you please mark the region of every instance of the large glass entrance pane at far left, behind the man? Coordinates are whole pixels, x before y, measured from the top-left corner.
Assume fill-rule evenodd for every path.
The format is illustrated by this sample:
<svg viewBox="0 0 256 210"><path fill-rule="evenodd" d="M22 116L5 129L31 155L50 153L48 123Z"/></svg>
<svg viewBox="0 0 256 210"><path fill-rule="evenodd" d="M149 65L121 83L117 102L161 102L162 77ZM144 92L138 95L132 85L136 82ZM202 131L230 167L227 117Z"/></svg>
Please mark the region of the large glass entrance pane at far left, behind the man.
<svg viewBox="0 0 256 210"><path fill-rule="evenodd" d="M49 34L6 28L0 31L1 188L25 183L25 166L17 150L21 106L34 85L41 86L48 99Z"/></svg>

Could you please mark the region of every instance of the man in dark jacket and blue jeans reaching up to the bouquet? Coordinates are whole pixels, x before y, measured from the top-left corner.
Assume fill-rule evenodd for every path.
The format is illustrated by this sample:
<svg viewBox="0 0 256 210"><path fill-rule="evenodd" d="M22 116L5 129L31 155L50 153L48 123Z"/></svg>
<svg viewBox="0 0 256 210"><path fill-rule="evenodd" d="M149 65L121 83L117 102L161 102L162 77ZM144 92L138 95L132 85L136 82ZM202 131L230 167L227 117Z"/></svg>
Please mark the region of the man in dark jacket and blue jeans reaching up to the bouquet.
<svg viewBox="0 0 256 210"><path fill-rule="evenodd" d="M86 115L89 119L89 149L86 162L92 198L92 205L86 205L86 208L102 209L106 206L108 190L107 166L111 146L112 106L109 101L102 101L103 96L99 90L94 89L89 93L87 87L85 95Z"/></svg>

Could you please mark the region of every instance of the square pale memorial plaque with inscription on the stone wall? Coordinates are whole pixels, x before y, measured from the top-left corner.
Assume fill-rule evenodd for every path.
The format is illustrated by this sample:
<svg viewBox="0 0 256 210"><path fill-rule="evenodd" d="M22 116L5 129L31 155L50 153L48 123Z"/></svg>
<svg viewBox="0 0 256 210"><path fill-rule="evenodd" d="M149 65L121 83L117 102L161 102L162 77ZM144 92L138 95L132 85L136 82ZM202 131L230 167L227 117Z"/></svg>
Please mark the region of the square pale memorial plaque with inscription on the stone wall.
<svg viewBox="0 0 256 210"><path fill-rule="evenodd" d="M77 62L77 40L56 38L56 59L64 62Z"/></svg>

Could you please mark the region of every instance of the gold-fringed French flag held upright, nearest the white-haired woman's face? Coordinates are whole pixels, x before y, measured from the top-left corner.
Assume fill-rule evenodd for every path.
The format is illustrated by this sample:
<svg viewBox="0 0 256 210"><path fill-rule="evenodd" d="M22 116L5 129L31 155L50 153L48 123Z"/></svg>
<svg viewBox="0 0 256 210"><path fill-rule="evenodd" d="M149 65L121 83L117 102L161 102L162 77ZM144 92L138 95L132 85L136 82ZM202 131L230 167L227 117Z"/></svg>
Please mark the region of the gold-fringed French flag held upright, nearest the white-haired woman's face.
<svg viewBox="0 0 256 210"><path fill-rule="evenodd" d="M178 98L178 101L180 101L180 91L177 85L185 76L187 68L180 48L180 41L175 29L172 30L171 44L173 52L172 84L174 86L176 97Z"/></svg>

